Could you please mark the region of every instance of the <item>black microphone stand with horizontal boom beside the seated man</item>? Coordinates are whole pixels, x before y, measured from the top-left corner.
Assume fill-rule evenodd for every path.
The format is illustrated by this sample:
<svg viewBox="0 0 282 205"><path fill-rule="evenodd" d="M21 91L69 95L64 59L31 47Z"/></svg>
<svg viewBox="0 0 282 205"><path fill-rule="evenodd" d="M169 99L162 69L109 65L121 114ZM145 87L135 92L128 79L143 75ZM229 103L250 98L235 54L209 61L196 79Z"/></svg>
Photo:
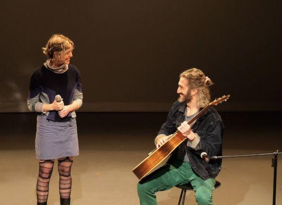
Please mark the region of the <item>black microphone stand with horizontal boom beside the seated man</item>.
<svg viewBox="0 0 282 205"><path fill-rule="evenodd" d="M276 150L276 152L273 152L273 153L244 154L244 155L231 155L231 156L213 156L210 159L274 155L274 157L272 158L271 167L273 167L273 169L274 169L274 172L273 172L273 199L272 199L272 204L275 205L275 203L276 203L276 178L277 178L277 157L278 157L278 154L282 154L282 152L278 152L278 150Z"/></svg>

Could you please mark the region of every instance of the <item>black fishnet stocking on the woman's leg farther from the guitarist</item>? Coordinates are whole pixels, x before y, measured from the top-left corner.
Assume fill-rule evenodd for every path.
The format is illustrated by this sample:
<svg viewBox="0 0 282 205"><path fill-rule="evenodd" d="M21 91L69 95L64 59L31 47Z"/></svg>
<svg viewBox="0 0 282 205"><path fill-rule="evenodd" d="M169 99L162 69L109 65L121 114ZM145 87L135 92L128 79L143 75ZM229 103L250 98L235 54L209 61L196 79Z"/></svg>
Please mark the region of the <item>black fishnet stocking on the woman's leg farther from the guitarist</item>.
<svg viewBox="0 0 282 205"><path fill-rule="evenodd" d="M52 175L54 162L52 160L45 160L39 162L39 174L36 185L37 202L43 203L48 199L49 181Z"/></svg>

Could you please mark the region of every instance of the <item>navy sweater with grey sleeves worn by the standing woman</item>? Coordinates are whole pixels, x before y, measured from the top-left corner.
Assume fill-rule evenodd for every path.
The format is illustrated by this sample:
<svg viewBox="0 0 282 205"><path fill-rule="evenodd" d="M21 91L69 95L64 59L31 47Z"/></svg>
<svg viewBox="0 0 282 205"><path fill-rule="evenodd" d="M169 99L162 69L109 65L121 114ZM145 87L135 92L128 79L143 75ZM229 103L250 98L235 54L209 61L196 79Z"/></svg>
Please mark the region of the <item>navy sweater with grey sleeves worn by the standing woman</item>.
<svg viewBox="0 0 282 205"><path fill-rule="evenodd" d="M64 73L55 73L44 65L36 68L30 79L28 106L31 111L36 112L36 103L53 103L55 95L61 95L64 105L72 104L74 99L82 99L82 85L80 84L80 73L78 69L69 65ZM46 114L38 113L37 114ZM57 111L49 111L47 119L53 121L66 121L72 117L71 113L61 118Z"/></svg>

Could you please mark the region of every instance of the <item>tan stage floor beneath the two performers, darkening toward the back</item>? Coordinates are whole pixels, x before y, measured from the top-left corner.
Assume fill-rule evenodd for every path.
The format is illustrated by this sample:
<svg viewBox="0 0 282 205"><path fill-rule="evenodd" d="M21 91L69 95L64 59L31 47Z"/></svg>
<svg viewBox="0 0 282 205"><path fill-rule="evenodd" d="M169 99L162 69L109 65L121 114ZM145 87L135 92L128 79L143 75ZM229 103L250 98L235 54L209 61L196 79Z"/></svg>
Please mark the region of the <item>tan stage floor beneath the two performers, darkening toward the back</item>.
<svg viewBox="0 0 282 205"><path fill-rule="evenodd" d="M220 113L226 126L224 155L282 150L282 113ZM36 204L38 162L34 152L35 115L2 113L0 138L1 204ZM80 155L72 167L71 204L139 204L132 169L154 149L166 113L78 113ZM281 152L280 150L280 152ZM214 204L272 204L272 156L223 160ZM276 204L282 204L282 155L278 156ZM56 163L55 163L56 167ZM54 168L48 204L59 204ZM177 204L180 190L158 192L160 205ZM196 204L187 192L187 204Z"/></svg>

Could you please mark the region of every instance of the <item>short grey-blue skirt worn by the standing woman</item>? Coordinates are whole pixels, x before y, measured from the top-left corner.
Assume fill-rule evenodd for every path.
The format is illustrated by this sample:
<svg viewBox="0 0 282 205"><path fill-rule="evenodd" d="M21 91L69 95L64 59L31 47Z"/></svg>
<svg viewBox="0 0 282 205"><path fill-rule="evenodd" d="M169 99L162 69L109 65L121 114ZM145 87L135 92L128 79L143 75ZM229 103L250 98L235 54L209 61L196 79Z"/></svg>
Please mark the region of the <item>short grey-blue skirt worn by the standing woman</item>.
<svg viewBox="0 0 282 205"><path fill-rule="evenodd" d="M79 154L76 119L67 122L37 116L35 153L38 159L57 159Z"/></svg>

